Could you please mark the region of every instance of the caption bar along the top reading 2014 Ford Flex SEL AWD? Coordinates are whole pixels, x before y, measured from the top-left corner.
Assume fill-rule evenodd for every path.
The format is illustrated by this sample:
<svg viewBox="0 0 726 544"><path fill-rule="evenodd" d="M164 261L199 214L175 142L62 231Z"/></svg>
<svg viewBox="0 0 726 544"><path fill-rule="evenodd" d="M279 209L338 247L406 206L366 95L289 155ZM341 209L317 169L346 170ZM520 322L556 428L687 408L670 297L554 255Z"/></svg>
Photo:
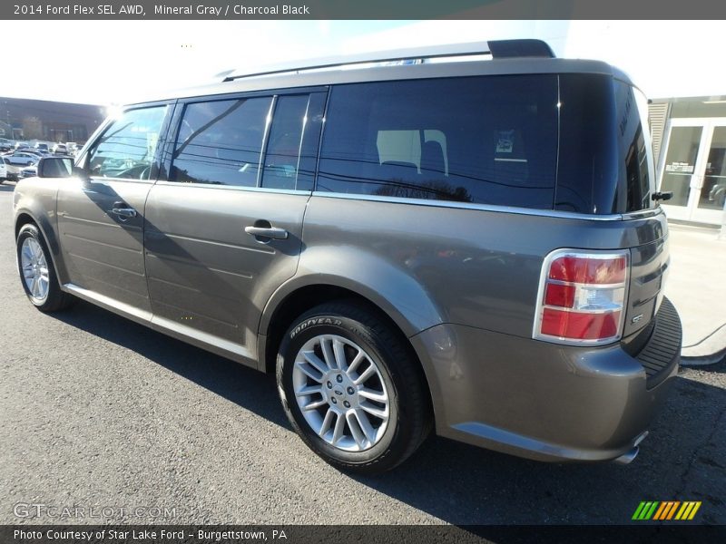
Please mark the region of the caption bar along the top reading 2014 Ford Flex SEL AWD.
<svg viewBox="0 0 726 544"><path fill-rule="evenodd" d="M718 0L5 0L9 20L723 19Z"/></svg>

